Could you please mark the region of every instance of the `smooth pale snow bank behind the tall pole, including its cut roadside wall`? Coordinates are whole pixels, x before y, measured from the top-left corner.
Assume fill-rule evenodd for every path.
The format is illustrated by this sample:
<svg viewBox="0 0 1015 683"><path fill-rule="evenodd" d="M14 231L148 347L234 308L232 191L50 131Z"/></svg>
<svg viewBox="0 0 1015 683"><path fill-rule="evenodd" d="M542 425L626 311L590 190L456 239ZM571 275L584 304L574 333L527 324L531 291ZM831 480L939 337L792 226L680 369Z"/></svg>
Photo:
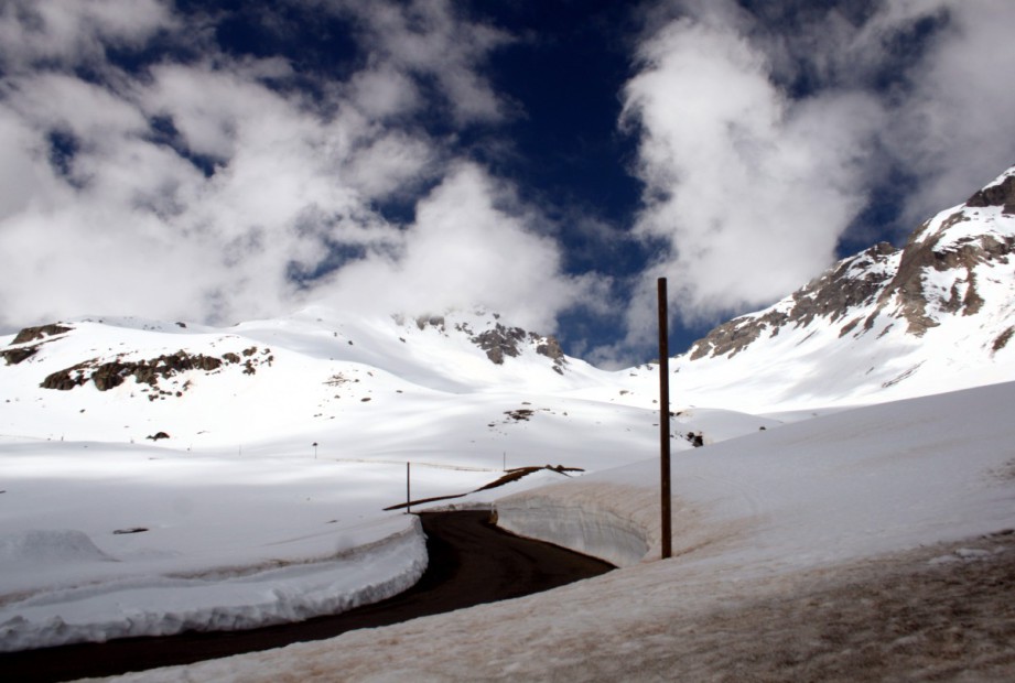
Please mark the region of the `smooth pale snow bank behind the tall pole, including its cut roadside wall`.
<svg viewBox="0 0 1015 683"><path fill-rule="evenodd" d="M678 454L673 555L781 572L1015 523L1015 383L838 412ZM497 503L500 524L618 566L658 557L658 463ZM639 543L640 541L640 543Z"/></svg>

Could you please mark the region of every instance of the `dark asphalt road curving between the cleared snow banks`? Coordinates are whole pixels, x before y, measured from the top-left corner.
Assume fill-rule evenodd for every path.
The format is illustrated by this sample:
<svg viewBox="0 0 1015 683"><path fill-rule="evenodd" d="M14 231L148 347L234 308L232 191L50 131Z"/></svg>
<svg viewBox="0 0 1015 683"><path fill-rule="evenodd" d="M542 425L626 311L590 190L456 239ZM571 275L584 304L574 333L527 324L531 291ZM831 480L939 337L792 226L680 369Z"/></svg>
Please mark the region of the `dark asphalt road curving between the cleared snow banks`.
<svg viewBox="0 0 1015 683"><path fill-rule="evenodd" d="M248 631L128 638L0 654L0 677L42 683L188 664L539 593L613 568L586 555L509 534L489 522L489 512L424 512L420 519L428 536L426 572L415 586L387 600Z"/></svg>

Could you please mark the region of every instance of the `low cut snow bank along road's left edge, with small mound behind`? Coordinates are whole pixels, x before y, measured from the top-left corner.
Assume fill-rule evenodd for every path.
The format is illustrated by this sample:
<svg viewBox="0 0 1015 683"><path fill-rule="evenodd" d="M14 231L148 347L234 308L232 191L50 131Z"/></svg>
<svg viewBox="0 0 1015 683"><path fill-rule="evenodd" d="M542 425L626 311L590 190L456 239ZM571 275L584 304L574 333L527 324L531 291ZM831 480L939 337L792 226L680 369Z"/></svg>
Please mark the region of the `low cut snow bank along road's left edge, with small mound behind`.
<svg viewBox="0 0 1015 683"><path fill-rule="evenodd" d="M133 576L12 599L0 606L0 651L249 629L376 603L410 588L426 568L419 519L404 520L399 531L327 561L279 563L225 576ZM102 556L80 532L29 532L0 540L4 564L41 554L79 560L83 553L88 560Z"/></svg>

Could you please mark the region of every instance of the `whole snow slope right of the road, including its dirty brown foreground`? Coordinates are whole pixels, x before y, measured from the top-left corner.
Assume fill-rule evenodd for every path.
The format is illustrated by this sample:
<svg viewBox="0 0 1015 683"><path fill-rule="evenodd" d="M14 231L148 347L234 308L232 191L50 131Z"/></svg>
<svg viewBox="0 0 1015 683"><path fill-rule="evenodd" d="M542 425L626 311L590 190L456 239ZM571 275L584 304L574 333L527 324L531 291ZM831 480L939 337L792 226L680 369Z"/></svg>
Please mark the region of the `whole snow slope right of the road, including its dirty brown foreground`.
<svg viewBox="0 0 1015 683"><path fill-rule="evenodd" d="M117 680L856 680L892 666L905 680L1004 680L1003 578L987 575L993 593L946 594L1015 553L1013 400L1003 383L685 452L673 460L674 557L662 562L655 462L512 495L497 502L508 527L570 543L584 517L586 538L611 546L624 520L648 550L548 594ZM908 574L892 579L898 567ZM948 599L961 616L933 611Z"/></svg>

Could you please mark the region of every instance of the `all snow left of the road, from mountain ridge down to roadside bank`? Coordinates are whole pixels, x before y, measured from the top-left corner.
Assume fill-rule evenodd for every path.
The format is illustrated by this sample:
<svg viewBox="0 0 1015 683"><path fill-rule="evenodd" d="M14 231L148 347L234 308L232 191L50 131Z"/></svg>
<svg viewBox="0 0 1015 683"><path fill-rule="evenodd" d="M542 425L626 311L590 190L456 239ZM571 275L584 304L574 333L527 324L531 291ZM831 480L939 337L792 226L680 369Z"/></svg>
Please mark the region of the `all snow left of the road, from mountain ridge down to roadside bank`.
<svg viewBox="0 0 1015 683"><path fill-rule="evenodd" d="M381 599L425 567L414 518L385 511L406 500L407 463L425 499L505 467L650 452L652 413L569 395L598 371L498 325L312 308L228 329L104 318L6 339L0 650ZM565 478L505 490L547 477Z"/></svg>

